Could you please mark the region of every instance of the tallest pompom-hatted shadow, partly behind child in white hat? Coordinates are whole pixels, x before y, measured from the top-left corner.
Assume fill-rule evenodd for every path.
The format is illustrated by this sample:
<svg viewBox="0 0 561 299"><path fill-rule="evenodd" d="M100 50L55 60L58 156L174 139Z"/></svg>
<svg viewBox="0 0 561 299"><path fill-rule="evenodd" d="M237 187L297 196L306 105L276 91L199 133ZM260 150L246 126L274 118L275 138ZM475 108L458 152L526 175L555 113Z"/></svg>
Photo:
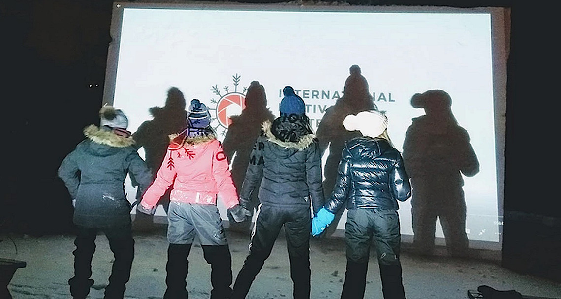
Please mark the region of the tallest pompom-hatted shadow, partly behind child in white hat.
<svg viewBox="0 0 561 299"><path fill-rule="evenodd" d="M343 127L343 119L349 114L356 114L361 111L378 109L374 104L373 96L370 94L368 82L361 75L361 69L357 65L350 67L350 76L345 81L343 96L335 104L326 109L321 118L316 136L319 141L321 156L329 149L329 155L324 166L323 192L325 200L328 200L335 185L337 178L337 167L341 161L341 152L344 142L353 137L361 136L358 131L347 131ZM325 229L323 236L330 236L337 223L341 220L344 209L335 214L333 224Z"/></svg>

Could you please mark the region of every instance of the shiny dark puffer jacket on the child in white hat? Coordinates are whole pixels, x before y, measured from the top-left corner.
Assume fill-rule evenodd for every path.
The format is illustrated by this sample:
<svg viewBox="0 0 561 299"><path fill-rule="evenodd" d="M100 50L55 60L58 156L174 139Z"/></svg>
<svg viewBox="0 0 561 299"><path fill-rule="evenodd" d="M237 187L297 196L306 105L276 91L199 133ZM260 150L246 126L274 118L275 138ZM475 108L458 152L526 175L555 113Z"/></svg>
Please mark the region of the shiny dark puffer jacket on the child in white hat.
<svg viewBox="0 0 561 299"><path fill-rule="evenodd" d="M356 137L345 143L337 181L325 208L397 210L411 196L411 185L398 150L381 138Z"/></svg>

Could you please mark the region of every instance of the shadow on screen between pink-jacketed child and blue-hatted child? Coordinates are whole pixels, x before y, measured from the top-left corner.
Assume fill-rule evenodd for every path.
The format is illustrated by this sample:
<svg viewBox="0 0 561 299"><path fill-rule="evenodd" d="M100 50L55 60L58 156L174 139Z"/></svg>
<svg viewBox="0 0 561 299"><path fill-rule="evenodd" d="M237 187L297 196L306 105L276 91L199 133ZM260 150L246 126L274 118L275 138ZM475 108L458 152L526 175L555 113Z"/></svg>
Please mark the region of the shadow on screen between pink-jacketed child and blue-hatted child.
<svg viewBox="0 0 561 299"><path fill-rule="evenodd" d="M226 137L222 142L224 153L231 163L232 181L238 191L242 186L243 178L245 178L255 141L261 134L261 125L265 121L272 122L274 118L273 112L267 108L265 88L259 81L252 81L247 88L245 108L240 115L230 117L232 122L228 126ZM257 186L257 190L259 190L259 186ZM259 206L258 193L253 192L251 197L251 209L254 212ZM228 220L230 229L250 232L251 219L248 218L242 223L236 223L228 212Z"/></svg>

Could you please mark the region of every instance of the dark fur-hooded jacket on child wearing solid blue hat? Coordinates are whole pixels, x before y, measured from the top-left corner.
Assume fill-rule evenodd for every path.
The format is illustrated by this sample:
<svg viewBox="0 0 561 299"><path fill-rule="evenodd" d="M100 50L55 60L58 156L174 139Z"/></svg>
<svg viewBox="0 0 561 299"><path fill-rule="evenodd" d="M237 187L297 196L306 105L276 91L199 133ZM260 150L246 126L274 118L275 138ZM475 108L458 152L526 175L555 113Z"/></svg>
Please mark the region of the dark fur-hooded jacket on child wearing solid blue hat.
<svg viewBox="0 0 561 299"><path fill-rule="evenodd" d="M317 212L324 203L321 155L309 126L279 117L263 123L240 191L240 203L250 202L259 182L261 204L302 205Z"/></svg>

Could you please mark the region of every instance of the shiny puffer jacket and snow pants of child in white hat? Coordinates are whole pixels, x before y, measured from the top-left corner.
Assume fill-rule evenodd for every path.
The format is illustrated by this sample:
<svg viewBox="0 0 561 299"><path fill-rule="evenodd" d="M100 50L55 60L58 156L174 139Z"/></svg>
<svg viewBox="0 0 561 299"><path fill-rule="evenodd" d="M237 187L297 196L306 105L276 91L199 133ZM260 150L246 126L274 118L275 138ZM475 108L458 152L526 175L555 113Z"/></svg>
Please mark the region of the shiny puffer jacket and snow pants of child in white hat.
<svg viewBox="0 0 561 299"><path fill-rule="evenodd" d="M374 237L385 299L404 299L399 262L399 206L411 196L399 151L388 141L367 136L347 142L337 181L325 209L335 214L347 206L347 269L341 298L364 297L370 245Z"/></svg>

